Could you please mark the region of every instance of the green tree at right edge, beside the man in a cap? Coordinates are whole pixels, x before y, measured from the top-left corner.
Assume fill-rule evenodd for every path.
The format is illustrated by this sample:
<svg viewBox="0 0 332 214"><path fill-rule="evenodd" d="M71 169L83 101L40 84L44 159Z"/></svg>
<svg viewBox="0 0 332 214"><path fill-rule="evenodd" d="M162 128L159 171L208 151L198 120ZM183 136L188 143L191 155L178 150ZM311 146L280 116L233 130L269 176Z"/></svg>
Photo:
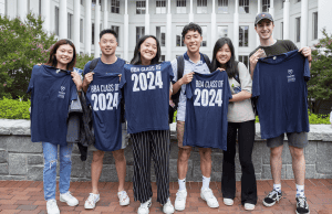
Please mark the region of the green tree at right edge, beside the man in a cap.
<svg viewBox="0 0 332 214"><path fill-rule="evenodd" d="M332 34L322 31L324 38L312 51L311 78L308 82L310 109L319 113L324 100L332 98Z"/></svg>

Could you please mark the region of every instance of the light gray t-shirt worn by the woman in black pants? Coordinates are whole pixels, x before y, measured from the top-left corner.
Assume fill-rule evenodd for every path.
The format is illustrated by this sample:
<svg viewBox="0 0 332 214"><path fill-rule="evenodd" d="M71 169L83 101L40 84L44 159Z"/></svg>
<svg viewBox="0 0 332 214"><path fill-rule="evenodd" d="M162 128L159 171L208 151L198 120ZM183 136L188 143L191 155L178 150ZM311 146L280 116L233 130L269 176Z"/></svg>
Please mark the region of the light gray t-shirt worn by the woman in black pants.
<svg viewBox="0 0 332 214"><path fill-rule="evenodd" d="M242 90L251 94L252 81L246 65L241 62L238 64L239 78L241 85L234 78L228 78L231 95L236 94L234 88L240 86ZM229 122L242 122L255 119L255 114L251 106L251 99L242 101L229 101L227 119Z"/></svg>

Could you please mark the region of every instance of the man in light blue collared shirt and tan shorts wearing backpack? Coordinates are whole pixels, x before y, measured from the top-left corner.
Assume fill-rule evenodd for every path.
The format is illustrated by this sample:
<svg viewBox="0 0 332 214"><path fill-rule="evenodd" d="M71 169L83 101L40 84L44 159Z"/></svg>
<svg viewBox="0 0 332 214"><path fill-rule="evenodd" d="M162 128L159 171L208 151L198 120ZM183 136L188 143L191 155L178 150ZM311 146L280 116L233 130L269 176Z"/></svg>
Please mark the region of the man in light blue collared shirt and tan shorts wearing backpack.
<svg viewBox="0 0 332 214"><path fill-rule="evenodd" d="M201 74L209 74L209 67L199 53L200 43L203 41L201 28L198 24L189 23L183 30L184 43L187 46L187 52L184 54L184 73L183 77L178 79L177 60L172 62L174 72L173 94L175 95L180 89L179 103L177 109L177 140L178 140L178 160L177 173L179 190L176 193L175 210L183 211L186 207L187 189L186 175L188 171L188 160L190 157L191 147L183 146L183 138L185 131L185 114L186 114L186 84L193 79L194 72ZM212 191L209 189L210 174L211 174L211 149L199 148L200 154L200 170L203 173L203 186L200 196L205 200L210 207L218 207L219 203L215 197Z"/></svg>

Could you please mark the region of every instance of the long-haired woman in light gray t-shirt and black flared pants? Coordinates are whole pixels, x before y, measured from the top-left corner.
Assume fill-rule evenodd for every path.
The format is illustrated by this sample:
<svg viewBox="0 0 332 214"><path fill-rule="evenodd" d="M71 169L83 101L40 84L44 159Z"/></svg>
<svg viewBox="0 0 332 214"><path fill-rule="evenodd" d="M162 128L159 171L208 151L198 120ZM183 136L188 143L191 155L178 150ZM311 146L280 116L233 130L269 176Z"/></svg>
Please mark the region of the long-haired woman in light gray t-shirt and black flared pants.
<svg viewBox="0 0 332 214"><path fill-rule="evenodd" d="M239 158L242 170L241 203L253 210L257 185L251 160L255 140L255 114L251 106L251 77L241 62L235 61L234 45L228 38L219 39L214 47L212 67L226 71L232 94L228 105L227 151L224 151L221 192L224 203L232 205L236 196L235 156L238 133Z"/></svg>

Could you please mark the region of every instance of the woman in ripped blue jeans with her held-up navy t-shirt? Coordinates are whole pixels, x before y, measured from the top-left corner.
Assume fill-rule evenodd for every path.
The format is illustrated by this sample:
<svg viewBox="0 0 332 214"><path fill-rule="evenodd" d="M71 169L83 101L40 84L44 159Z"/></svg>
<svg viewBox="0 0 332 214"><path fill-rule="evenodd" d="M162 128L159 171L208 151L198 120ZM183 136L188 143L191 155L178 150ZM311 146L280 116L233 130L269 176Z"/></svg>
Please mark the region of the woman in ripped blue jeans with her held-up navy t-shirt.
<svg viewBox="0 0 332 214"><path fill-rule="evenodd" d="M76 63L75 46L69 40L58 41L45 65L32 69L28 92L31 94L31 141L42 142L44 154L44 199L49 214L59 214L55 201L58 146L60 153L60 201L75 206L71 195L71 156L73 143L68 143L66 116L69 104L82 90L80 74L73 72Z"/></svg>

